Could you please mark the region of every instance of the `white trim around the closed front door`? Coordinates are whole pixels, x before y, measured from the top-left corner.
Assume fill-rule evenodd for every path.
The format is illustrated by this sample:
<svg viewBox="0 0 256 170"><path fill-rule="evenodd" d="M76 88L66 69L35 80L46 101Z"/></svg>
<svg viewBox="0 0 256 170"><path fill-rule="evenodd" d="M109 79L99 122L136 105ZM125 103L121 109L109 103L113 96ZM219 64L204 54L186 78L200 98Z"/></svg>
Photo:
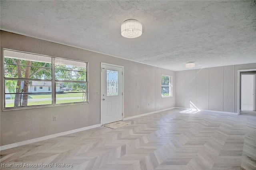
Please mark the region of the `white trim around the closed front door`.
<svg viewBox="0 0 256 170"><path fill-rule="evenodd" d="M122 68L122 120L124 120L124 66L109 64L109 63L100 63L100 125L102 126L102 65L116 66Z"/></svg>

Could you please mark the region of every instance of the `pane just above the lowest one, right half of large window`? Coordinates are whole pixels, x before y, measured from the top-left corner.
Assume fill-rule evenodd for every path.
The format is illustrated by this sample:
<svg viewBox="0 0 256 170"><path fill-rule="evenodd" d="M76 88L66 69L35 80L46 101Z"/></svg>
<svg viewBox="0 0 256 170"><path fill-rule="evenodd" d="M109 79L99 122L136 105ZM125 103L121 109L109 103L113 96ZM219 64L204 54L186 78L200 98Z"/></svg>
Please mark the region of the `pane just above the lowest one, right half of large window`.
<svg viewBox="0 0 256 170"><path fill-rule="evenodd" d="M56 82L56 93L62 92L86 92L86 83Z"/></svg>

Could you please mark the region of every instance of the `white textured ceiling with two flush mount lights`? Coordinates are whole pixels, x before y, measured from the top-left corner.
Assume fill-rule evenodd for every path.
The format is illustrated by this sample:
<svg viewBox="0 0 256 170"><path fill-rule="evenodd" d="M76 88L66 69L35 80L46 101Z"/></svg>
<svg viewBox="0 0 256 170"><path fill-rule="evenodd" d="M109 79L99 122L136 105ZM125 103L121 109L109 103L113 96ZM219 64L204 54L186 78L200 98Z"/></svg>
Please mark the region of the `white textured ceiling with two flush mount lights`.
<svg viewBox="0 0 256 170"><path fill-rule="evenodd" d="M0 1L2 30L169 70L256 63L255 1ZM120 26L142 23L127 39Z"/></svg>

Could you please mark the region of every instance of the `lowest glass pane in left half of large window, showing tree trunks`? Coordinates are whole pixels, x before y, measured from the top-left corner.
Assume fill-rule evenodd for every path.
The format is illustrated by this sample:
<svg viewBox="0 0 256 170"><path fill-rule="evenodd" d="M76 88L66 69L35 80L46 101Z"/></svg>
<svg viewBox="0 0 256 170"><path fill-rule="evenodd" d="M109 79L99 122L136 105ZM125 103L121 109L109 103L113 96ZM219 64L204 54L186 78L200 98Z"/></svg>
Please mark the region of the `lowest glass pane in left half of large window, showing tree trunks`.
<svg viewBox="0 0 256 170"><path fill-rule="evenodd" d="M52 104L51 93L5 94L5 107L37 106L46 104Z"/></svg>

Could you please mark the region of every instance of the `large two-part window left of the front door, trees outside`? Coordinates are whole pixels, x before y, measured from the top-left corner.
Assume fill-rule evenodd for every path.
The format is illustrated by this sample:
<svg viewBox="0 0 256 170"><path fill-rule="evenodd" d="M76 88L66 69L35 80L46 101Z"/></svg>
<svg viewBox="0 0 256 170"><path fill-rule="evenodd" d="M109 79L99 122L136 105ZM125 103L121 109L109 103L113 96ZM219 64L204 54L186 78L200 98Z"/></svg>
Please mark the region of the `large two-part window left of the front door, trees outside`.
<svg viewBox="0 0 256 170"><path fill-rule="evenodd" d="M3 51L4 108L88 102L87 63Z"/></svg>

